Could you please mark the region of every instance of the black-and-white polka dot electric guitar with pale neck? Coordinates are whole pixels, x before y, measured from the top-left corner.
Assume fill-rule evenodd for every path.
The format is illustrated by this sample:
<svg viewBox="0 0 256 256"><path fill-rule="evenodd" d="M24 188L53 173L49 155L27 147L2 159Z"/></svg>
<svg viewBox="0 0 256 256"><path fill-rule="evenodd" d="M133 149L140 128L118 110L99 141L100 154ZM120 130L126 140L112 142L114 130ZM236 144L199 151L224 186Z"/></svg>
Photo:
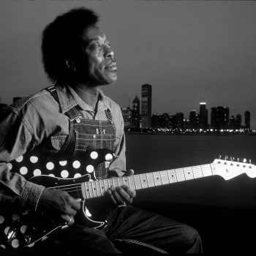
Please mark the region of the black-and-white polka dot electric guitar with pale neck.
<svg viewBox="0 0 256 256"><path fill-rule="evenodd" d="M55 158L47 159L45 162L39 157L31 156L26 161L20 157L8 165L18 170L31 182L41 184L48 189L64 190L74 198L81 198L82 206L75 221L94 228L108 225L107 220L101 219L101 214L95 210L94 206L103 205L105 192L110 187L126 184L138 190L215 175L222 176L225 180L242 173L246 173L250 178L256 176L255 165L251 163L215 159L208 165L106 178L108 167L115 157L112 151L99 149L86 152L83 158L69 157L68 161ZM36 242L48 238L50 233L65 227L67 223L51 219L42 212L12 208L10 205L1 207L0 246L9 250L18 250L22 246L34 246Z"/></svg>

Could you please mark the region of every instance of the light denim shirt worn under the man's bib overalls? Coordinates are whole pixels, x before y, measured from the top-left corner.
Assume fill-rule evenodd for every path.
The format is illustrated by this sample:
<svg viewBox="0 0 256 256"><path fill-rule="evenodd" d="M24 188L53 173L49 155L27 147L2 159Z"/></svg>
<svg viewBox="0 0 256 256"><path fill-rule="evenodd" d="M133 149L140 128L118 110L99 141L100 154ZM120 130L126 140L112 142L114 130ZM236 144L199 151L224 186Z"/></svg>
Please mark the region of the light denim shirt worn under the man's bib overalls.
<svg viewBox="0 0 256 256"><path fill-rule="evenodd" d="M43 144L47 153L58 151L69 134L69 121L65 113L78 105L83 118L107 120L109 109L116 126L116 151L118 157L110 165L110 171L118 176L126 170L124 120L121 108L99 91L97 113L83 102L69 86L56 86L59 102L46 89L22 98L10 105L0 116L0 202L18 202L28 208L36 208L43 186L34 184L19 173L10 172L8 162ZM50 140L50 144L44 143Z"/></svg>

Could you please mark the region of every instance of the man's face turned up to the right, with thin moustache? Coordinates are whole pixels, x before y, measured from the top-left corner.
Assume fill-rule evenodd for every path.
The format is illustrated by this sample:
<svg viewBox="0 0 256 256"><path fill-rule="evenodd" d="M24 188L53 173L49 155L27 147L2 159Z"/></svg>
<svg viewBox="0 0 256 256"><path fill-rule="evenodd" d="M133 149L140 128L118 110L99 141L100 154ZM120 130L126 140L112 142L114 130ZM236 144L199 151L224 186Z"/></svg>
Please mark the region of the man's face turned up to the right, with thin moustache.
<svg viewBox="0 0 256 256"><path fill-rule="evenodd" d="M79 79L88 86L116 82L116 61L105 34L96 26L83 31L82 53L75 61Z"/></svg>

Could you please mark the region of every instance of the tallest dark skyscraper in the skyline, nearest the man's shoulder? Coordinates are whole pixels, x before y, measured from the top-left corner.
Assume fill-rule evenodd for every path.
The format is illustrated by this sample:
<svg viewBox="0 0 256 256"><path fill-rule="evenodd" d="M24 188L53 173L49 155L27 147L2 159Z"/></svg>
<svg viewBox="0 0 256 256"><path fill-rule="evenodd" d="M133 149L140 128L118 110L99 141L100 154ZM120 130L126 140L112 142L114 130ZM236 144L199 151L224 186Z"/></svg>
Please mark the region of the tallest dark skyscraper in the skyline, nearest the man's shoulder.
<svg viewBox="0 0 256 256"><path fill-rule="evenodd" d="M143 84L141 88L141 127L151 127L151 102L152 102L152 86Z"/></svg>

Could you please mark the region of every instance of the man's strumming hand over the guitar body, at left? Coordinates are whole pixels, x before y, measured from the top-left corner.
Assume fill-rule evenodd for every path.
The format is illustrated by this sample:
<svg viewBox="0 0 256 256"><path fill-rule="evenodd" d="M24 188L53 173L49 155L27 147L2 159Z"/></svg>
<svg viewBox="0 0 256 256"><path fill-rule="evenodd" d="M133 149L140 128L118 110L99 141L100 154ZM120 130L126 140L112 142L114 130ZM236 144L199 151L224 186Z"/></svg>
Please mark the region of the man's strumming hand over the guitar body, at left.
<svg viewBox="0 0 256 256"><path fill-rule="evenodd" d="M73 217L80 209L80 201L75 200L65 191L43 189L37 208L39 211L52 214L63 219L68 225L72 225L74 223Z"/></svg>

